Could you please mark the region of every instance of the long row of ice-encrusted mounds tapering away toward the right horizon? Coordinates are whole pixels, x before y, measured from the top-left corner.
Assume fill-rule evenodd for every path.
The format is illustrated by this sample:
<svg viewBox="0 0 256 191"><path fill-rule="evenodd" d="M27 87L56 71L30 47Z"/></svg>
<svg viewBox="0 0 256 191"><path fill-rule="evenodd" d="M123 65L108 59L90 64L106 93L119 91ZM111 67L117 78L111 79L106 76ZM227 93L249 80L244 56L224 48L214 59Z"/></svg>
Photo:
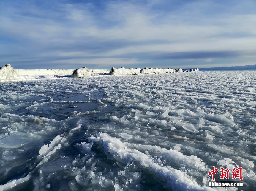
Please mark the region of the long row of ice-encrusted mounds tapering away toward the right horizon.
<svg viewBox="0 0 256 191"><path fill-rule="evenodd" d="M194 72L199 71L198 68L195 69L188 69L188 70L182 70L179 69L172 69L172 68L129 68L126 69L124 67L121 68L114 68L112 67L110 69L110 75L138 75L138 74L161 74L161 73L174 73L174 72Z"/></svg>

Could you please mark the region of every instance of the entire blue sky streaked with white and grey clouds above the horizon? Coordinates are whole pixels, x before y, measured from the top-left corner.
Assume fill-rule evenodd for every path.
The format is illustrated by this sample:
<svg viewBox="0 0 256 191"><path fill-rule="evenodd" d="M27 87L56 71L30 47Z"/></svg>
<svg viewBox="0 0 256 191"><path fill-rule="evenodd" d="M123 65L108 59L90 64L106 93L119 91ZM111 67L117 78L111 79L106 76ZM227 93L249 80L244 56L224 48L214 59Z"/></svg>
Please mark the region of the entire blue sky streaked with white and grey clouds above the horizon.
<svg viewBox="0 0 256 191"><path fill-rule="evenodd" d="M256 64L255 7L255 0L1 0L0 66Z"/></svg>

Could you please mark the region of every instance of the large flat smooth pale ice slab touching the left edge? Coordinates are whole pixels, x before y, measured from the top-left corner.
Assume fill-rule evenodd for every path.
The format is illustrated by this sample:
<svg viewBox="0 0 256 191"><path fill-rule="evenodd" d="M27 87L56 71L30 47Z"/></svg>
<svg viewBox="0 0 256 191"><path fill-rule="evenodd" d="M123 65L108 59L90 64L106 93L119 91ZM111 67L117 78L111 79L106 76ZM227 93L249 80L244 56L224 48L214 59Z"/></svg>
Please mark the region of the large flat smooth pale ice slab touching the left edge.
<svg viewBox="0 0 256 191"><path fill-rule="evenodd" d="M13 134L0 140L0 147L16 149L28 144L32 139L27 136Z"/></svg>

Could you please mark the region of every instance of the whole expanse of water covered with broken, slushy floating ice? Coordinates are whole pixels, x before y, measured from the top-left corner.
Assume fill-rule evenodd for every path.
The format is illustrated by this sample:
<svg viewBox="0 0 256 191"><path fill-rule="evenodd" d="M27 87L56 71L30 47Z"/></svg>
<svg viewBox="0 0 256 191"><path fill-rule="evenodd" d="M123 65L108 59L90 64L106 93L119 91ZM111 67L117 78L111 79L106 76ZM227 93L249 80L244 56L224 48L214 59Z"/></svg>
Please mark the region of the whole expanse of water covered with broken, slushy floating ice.
<svg viewBox="0 0 256 191"><path fill-rule="evenodd" d="M236 190L205 187L212 166L243 167L243 190L254 190L255 79L228 71L1 83L0 190Z"/></svg>

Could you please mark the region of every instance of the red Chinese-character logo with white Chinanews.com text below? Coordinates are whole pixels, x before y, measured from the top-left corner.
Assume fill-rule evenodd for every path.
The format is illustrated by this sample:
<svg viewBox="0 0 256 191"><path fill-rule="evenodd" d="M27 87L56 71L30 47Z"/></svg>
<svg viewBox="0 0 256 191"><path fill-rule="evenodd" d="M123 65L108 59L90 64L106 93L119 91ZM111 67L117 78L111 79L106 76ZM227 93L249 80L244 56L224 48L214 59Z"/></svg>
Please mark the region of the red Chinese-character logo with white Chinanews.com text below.
<svg viewBox="0 0 256 191"><path fill-rule="evenodd" d="M243 188L246 187L246 184L243 180L242 167L233 168L229 170L228 168L224 169L220 167L220 170L213 166L212 170L208 172L208 175L211 176L212 181L206 182L208 187L217 188L217 187L235 187L235 188ZM215 180L215 174L220 172L219 179L221 181ZM223 180L223 181L222 181ZM229 181L232 180L232 181Z"/></svg>

